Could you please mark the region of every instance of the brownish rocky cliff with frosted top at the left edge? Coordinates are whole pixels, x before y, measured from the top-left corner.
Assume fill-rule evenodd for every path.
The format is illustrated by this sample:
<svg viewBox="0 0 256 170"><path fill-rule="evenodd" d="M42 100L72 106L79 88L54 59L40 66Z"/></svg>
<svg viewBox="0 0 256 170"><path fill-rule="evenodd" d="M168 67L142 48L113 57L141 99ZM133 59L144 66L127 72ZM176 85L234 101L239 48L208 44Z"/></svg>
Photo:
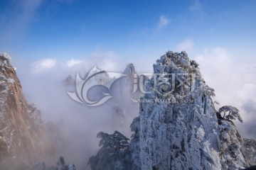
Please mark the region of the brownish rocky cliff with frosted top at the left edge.
<svg viewBox="0 0 256 170"><path fill-rule="evenodd" d="M43 157L44 128L41 112L22 94L11 58L0 54L0 164L21 169Z"/></svg>

